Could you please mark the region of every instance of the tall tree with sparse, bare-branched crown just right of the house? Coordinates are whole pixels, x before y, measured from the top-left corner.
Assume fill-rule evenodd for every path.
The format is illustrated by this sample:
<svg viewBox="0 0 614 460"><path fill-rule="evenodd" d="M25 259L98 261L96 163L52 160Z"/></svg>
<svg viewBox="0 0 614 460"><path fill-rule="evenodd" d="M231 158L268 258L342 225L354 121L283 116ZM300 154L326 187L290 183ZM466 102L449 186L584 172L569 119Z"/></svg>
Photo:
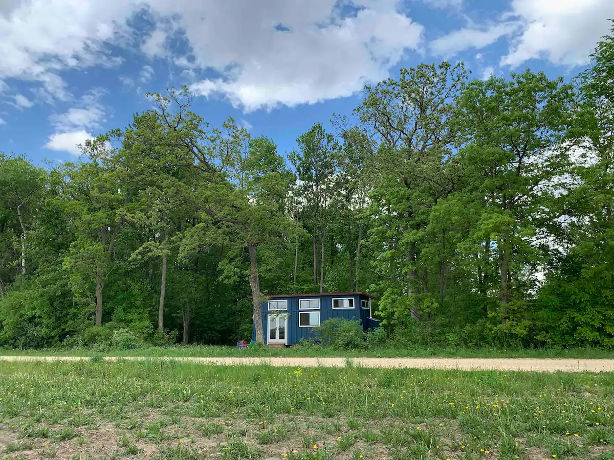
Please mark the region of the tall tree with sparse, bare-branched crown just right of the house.
<svg viewBox="0 0 614 460"><path fill-rule="evenodd" d="M462 64L401 69L397 80L365 86L355 110L376 152L370 244L378 248L374 263L385 318L403 321L410 312L421 320L429 305L425 230L429 209L453 190L454 154L464 141L457 100L466 77ZM445 264L437 269L444 272Z"/></svg>

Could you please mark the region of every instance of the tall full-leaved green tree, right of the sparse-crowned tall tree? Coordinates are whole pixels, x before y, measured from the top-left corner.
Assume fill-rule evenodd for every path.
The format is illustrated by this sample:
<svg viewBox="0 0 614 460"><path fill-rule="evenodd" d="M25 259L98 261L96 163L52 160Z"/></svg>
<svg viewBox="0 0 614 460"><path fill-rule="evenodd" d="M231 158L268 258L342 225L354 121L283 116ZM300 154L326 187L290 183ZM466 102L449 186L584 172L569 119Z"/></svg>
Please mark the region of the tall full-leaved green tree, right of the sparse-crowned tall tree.
<svg viewBox="0 0 614 460"><path fill-rule="evenodd" d="M570 167L564 135L574 100L572 86L562 78L530 71L512 73L509 81L473 80L462 94L472 136L464 150L465 193L482 202L470 238L476 245L486 241L484 250L497 253L502 324L509 319L515 287L547 258L537 231L556 217L549 212L551 182Z"/></svg>

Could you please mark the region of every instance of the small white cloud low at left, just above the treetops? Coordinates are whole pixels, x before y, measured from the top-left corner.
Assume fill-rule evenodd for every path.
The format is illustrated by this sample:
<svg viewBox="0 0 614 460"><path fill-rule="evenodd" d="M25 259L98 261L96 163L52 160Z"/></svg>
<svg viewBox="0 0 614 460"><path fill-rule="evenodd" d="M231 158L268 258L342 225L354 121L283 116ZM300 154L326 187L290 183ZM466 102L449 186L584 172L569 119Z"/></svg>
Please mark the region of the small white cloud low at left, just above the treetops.
<svg viewBox="0 0 614 460"><path fill-rule="evenodd" d="M64 113L55 113L49 121L55 132L49 136L45 148L50 150L68 151L71 155L80 155L78 144L93 139L95 129L101 128L104 121L105 110L99 99L103 90L91 90L80 99L79 107L71 107Z"/></svg>

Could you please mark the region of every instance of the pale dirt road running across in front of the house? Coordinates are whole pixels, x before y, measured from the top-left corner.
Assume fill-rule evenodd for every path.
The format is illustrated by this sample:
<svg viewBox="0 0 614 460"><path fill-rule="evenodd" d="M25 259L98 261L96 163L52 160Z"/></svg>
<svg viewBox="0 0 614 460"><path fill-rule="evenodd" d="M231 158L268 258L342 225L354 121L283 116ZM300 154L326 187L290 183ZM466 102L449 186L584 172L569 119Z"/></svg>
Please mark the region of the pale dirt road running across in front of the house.
<svg viewBox="0 0 614 460"><path fill-rule="evenodd" d="M0 356L0 361L80 361L83 356ZM221 366L257 365L290 367L344 367L351 363L360 367L461 369L461 370L526 370L534 372L610 372L614 359L535 359L535 358L105 358L117 359L169 359L198 364Z"/></svg>

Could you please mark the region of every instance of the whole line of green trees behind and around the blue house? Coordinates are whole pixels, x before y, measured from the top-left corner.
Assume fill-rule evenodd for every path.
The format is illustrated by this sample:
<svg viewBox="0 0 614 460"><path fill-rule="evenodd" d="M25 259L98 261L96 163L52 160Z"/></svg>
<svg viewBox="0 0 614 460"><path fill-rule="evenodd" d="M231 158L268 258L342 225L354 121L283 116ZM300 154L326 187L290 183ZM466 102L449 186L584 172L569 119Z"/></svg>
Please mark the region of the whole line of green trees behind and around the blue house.
<svg viewBox="0 0 614 460"><path fill-rule="evenodd" d="M613 347L613 37L592 57L402 69L287 155L186 88L87 161L2 155L0 345L231 343L263 295L362 290L415 343Z"/></svg>

